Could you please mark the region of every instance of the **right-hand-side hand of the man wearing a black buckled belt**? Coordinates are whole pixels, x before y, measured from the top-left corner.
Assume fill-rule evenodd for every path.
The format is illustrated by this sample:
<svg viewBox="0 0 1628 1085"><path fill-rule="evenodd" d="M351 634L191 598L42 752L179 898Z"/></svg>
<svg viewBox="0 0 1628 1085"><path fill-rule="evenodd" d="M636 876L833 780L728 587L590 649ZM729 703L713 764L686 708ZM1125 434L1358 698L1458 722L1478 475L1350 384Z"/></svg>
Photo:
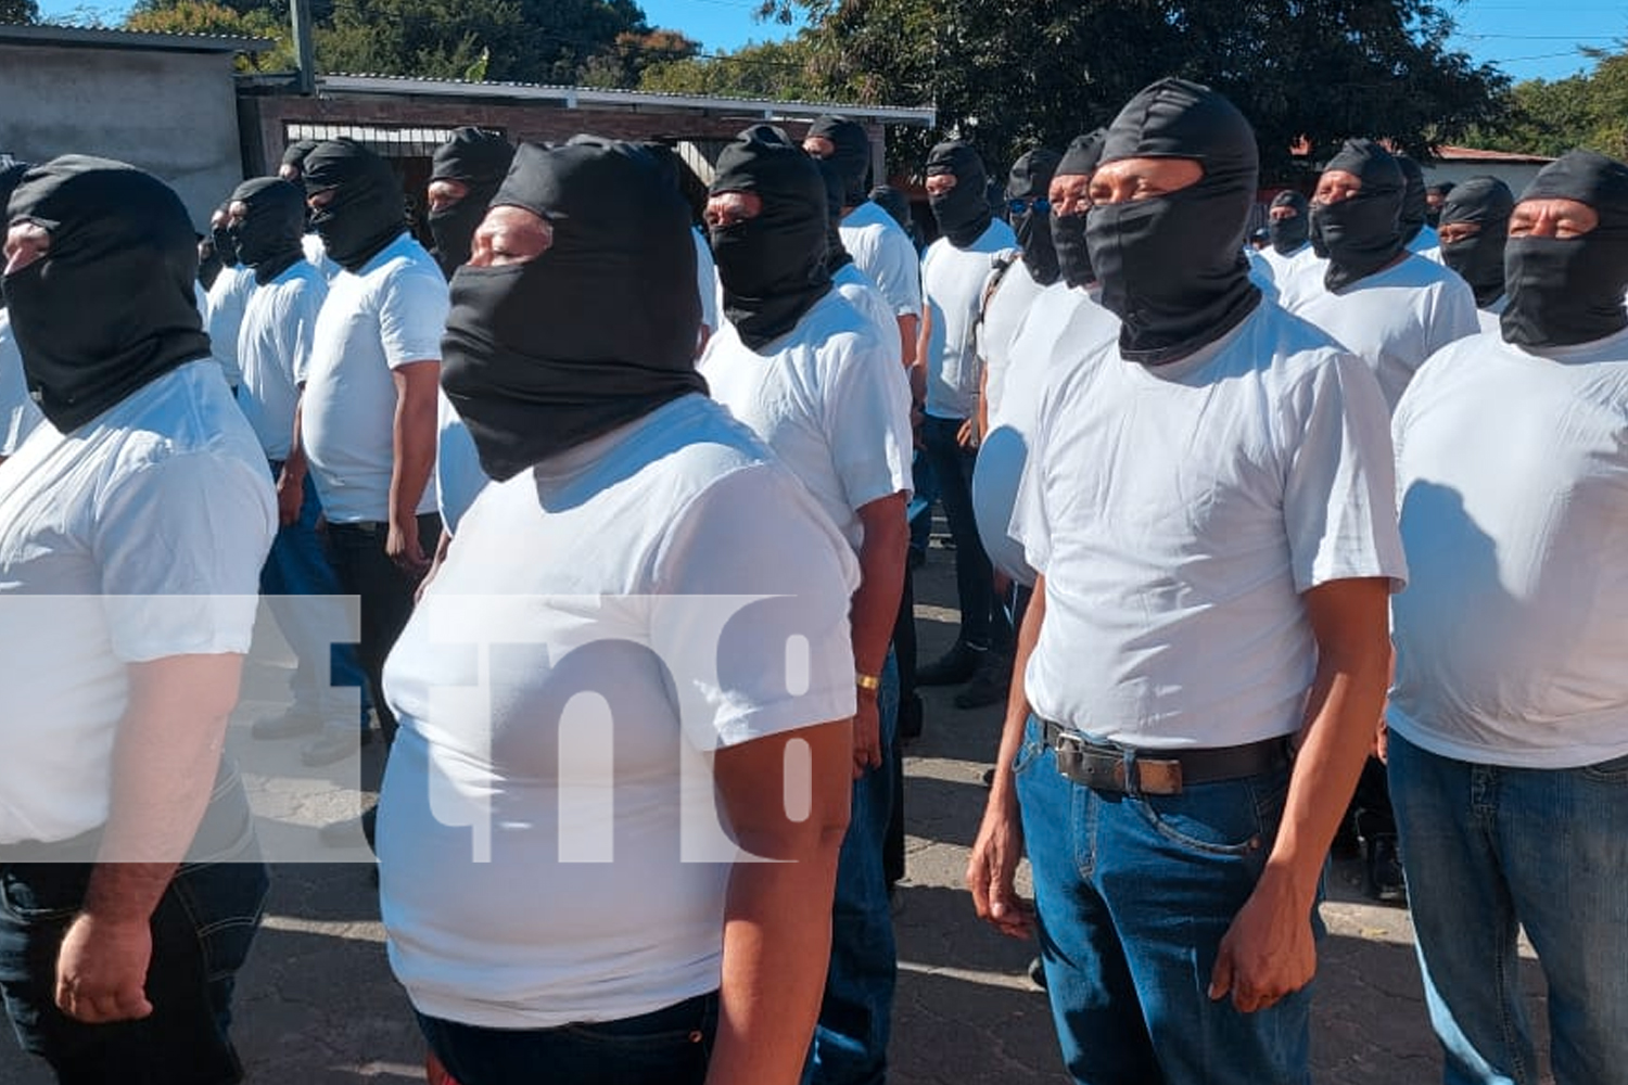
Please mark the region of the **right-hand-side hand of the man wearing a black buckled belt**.
<svg viewBox="0 0 1628 1085"><path fill-rule="evenodd" d="M1311 904L1298 901L1288 882L1268 872L1221 939L1210 997L1231 994L1241 1013L1254 1013L1294 994L1315 973Z"/></svg>

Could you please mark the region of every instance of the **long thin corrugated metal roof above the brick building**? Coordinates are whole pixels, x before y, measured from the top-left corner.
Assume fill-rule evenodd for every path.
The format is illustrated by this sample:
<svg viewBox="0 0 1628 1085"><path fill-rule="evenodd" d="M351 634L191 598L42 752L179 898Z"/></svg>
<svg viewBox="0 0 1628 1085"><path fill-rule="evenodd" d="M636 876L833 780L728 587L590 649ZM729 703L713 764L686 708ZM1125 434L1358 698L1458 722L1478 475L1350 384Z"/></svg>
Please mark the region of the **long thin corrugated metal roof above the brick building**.
<svg viewBox="0 0 1628 1085"><path fill-rule="evenodd" d="M265 85L264 76L256 83ZM544 83L469 83L464 80L425 80L404 75L324 75L317 78L321 94L423 94L430 98L510 98L518 101L557 101L567 109L609 106L619 109L694 109L703 112L759 114L775 117L817 117L842 112L855 120L931 127L938 119L933 106L851 106L838 102L770 101L762 98L729 98L708 94L658 94L589 86L550 86Z"/></svg>

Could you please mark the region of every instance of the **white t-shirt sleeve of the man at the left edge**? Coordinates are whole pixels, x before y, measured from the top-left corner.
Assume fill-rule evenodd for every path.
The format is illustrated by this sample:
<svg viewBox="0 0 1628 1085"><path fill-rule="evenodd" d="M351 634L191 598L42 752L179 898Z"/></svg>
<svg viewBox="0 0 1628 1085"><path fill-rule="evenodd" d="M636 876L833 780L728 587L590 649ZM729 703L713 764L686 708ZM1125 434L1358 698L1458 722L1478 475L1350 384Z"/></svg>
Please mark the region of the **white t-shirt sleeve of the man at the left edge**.
<svg viewBox="0 0 1628 1085"><path fill-rule="evenodd" d="M114 654L247 652L275 534L270 477L212 449L119 480L91 529Z"/></svg>

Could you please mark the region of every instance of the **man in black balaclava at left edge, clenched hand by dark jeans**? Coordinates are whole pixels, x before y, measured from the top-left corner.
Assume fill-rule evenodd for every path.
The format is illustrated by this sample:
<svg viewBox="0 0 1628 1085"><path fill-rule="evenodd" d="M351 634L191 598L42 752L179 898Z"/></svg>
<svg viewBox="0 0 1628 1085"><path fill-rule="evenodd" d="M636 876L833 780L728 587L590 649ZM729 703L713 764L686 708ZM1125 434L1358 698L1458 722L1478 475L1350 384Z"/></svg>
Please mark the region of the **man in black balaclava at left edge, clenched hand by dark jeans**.
<svg viewBox="0 0 1628 1085"><path fill-rule="evenodd" d="M36 904L0 909L5 1005L63 1082L238 1082L231 984L269 882L221 747L272 486L208 356L181 198L65 156L7 220L49 425L0 470L0 869Z"/></svg>

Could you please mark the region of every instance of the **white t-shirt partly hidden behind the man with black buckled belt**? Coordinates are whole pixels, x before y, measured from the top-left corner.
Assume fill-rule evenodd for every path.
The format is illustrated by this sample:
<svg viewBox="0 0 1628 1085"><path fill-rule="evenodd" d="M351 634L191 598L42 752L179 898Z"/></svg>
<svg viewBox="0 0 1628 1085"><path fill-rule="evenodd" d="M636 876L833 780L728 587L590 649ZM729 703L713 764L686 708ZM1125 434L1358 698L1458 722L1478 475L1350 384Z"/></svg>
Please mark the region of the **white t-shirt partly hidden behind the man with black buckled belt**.
<svg viewBox="0 0 1628 1085"><path fill-rule="evenodd" d="M1074 290L1057 281L1029 307L1013 345L1004 395L990 405L990 431L978 446L972 470L972 516L995 569L1019 584L1034 584L1022 545L1008 534L1017 483L1029 459L1029 439L1047 381L1068 359L1118 335L1118 317L1102 307L1101 291Z"/></svg>

